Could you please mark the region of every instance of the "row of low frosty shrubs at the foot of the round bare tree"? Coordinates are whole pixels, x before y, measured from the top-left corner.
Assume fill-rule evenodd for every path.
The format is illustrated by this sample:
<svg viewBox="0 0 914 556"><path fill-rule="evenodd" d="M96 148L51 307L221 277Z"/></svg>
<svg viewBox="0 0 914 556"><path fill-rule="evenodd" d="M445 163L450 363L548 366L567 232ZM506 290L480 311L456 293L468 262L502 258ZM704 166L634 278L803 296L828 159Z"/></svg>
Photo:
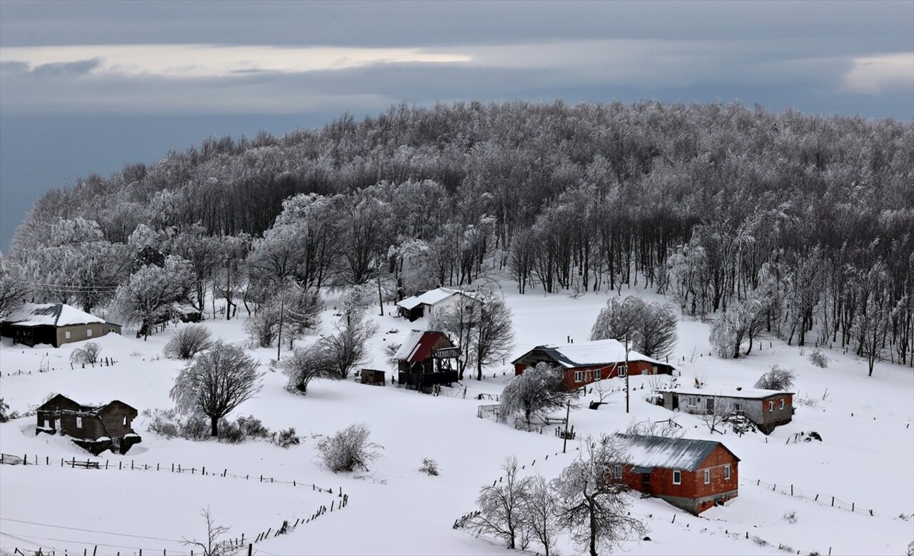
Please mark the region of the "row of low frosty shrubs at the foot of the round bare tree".
<svg viewBox="0 0 914 556"><path fill-rule="evenodd" d="M180 437L186 440L206 440L209 435L209 420L200 415L179 414L175 409L154 409L143 412L152 417L146 430L166 438ZM294 428L271 432L260 419L241 415L234 421L219 419L219 442L241 444L248 440L267 440L276 446L287 448L301 443Z"/></svg>

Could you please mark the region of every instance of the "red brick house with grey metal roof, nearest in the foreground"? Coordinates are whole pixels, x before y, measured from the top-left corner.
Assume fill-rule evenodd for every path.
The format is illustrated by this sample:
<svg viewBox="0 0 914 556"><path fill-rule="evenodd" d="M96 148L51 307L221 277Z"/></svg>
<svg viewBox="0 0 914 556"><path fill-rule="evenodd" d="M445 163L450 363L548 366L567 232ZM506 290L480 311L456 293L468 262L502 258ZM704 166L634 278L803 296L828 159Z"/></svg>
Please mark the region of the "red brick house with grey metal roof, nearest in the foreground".
<svg viewBox="0 0 914 556"><path fill-rule="evenodd" d="M629 488L698 515L739 494L739 457L712 440L618 435L627 461L612 473Z"/></svg>

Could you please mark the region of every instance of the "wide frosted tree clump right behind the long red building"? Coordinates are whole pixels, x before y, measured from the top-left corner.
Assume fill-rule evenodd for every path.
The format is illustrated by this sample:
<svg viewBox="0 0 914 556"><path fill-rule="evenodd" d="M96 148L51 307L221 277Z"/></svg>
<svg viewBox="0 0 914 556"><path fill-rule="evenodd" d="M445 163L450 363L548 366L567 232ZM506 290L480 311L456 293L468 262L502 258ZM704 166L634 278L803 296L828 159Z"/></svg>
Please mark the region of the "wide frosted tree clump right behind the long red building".
<svg viewBox="0 0 914 556"><path fill-rule="evenodd" d="M628 339L632 349L648 357L669 355L676 345L676 314L661 303L637 296L610 298L590 329L590 340Z"/></svg>

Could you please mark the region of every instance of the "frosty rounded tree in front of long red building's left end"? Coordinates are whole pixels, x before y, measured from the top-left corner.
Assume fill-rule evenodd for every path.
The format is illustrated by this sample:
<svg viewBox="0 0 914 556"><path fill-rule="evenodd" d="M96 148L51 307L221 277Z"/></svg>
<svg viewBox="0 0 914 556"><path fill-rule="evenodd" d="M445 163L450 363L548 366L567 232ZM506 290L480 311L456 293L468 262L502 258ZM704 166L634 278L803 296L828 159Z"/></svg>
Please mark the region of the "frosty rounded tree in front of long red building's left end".
<svg viewBox="0 0 914 556"><path fill-rule="evenodd" d="M512 378L499 401L503 415L519 414L520 421L530 430L535 418L563 409L575 397L565 386L562 370L540 362Z"/></svg>

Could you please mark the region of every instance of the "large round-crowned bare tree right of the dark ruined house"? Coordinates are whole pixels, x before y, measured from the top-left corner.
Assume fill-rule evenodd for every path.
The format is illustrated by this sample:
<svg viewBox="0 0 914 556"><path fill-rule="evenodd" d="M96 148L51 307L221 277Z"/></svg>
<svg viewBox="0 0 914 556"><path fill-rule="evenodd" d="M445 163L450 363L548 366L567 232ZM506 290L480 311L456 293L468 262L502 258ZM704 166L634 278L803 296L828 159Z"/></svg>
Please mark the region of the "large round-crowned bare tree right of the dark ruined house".
<svg viewBox="0 0 914 556"><path fill-rule="evenodd" d="M206 415L218 436L219 419L260 392L257 365L241 348L216 341L178 372L171 398L182 411Z"/></svg>

